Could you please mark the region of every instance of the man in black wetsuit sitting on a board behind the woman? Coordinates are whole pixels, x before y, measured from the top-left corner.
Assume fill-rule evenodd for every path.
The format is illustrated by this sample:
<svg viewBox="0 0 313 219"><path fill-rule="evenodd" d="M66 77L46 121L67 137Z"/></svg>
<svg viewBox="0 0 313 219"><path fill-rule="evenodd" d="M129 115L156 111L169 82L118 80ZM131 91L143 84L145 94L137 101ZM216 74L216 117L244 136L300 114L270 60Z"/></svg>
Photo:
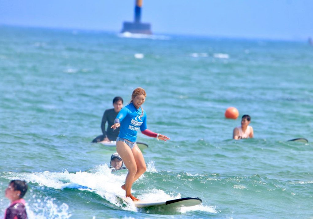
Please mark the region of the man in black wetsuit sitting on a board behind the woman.
<svg viewBox="0 0 313 219"><path fill-rule="evenodd" d="M101 122L101 130L103 135L99 135L96 137L92 142L109 142L109 141L115 141L118 134L120 133L120 128L117 128L115 130L111 129L111 126L114 125L114 120L117 116L117 114L120 112L120 110L123 107L123 99L121 97L115 97L113 99L113 109L107 109L105 110L102 122ZM105 124L108 123L108 126L105 130Z"/></svg>

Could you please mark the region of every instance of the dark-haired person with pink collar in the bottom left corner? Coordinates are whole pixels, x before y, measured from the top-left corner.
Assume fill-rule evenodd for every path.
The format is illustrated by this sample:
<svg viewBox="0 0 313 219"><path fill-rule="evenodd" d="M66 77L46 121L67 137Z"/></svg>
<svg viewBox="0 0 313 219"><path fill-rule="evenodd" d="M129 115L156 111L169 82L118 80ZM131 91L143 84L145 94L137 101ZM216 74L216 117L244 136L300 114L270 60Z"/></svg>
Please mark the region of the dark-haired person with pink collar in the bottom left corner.
<svg viewBox="0 0 313 219"><path fill-rule="evenodd" d="M23 196L27 192L27 184L22 180L12 180L5 190L5 196L11 201L5 210L4 219L27 219Z"/></svg>

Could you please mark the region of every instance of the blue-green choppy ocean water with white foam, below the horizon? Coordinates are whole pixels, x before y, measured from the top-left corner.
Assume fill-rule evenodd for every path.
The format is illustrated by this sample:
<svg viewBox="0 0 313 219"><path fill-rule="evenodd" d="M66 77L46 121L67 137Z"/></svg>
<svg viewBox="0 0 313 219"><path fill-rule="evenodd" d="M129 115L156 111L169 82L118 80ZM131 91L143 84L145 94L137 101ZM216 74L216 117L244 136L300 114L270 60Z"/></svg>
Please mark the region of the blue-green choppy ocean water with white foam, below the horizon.
<svg viewBox="0 0 313 219"><path fill-rule="evenodd" d="M120 35L0 26L0 215L24 179L34 218L313 218L313 47L306 42ZM121 201L101 134L114 96L146 89L152 131L138 141L142 200L199 197L181 209ZM232 140L249 114L254 139ZM306 138L309 143L288 142Z"/></svg>

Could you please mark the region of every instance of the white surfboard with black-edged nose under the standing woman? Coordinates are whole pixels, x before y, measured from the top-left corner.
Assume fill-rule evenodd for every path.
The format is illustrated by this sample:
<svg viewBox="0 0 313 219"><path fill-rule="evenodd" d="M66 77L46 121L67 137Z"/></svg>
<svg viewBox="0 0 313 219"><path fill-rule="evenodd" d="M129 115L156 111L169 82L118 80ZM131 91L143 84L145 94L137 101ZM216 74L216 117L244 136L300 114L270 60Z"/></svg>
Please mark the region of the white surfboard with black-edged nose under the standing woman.
<svg viewBox="0 0 313 219"><path fill-rule="evenodd" d="M134 201L137 208L153 206L170 206L170 207L190 207L201 204L202 200L198 197L186 197L167 201Z"/></svg>

